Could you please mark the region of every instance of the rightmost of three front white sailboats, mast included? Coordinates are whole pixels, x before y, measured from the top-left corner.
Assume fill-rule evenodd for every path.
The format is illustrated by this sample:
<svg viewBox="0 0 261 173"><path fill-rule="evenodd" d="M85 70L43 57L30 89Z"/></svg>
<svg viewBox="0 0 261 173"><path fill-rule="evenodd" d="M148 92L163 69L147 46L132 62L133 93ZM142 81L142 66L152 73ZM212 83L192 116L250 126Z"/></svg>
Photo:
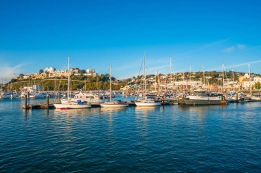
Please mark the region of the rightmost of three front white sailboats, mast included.
<svg viewBox="0 0 261 173"><path fill-rule="evenodd" d="M138 98L135 100L135 105L138 107L150 107L150 106L160 106L160 101L155 101L154 98L146 97L146 67L145 67L145 55L144 55L144 94L142 94L143 98Z"/></svg>

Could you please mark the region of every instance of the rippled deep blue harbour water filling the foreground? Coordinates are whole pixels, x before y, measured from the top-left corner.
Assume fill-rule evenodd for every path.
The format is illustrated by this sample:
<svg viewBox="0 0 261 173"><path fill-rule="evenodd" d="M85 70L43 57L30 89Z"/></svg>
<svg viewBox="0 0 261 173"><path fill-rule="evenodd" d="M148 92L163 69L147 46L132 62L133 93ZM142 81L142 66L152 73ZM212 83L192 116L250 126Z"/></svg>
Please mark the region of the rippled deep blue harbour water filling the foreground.
<svg viewBox="0 0 261 173"><path fill-rule="evenodd" d="M0 100L0 172L259 172L261 103L23 111Z"/></svg>

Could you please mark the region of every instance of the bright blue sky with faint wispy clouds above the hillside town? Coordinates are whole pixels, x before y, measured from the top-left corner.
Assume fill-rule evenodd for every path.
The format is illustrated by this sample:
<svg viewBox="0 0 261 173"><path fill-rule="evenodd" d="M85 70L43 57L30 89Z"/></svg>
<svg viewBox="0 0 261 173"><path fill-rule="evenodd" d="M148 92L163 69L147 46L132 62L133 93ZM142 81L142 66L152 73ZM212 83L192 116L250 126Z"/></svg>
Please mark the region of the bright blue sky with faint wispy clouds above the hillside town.
<svg viewBox="0 0 261 173"><path fill-rule="evenodd" d="M0 77L54 66L95 68L121 79L148 73L261 73L261 1L0 0Z"/></svg>

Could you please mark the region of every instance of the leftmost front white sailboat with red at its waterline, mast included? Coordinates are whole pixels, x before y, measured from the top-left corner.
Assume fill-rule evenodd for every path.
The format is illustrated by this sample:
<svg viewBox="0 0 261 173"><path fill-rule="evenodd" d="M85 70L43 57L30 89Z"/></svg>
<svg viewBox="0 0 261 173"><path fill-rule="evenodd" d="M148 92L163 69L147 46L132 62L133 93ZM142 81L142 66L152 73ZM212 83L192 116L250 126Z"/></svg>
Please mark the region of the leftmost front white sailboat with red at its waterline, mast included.
<svg viewBox="0 0 261 173"><path fill-rule="evenodd" d="M69 57L68 57L68 83L67 83L67 102L63 103L56 103L54 107L58 109L82 109L82 108L89 108L91 105L87 103L87 101L70 101L69 93L70 93L70 75L69 75Z"/></svg>

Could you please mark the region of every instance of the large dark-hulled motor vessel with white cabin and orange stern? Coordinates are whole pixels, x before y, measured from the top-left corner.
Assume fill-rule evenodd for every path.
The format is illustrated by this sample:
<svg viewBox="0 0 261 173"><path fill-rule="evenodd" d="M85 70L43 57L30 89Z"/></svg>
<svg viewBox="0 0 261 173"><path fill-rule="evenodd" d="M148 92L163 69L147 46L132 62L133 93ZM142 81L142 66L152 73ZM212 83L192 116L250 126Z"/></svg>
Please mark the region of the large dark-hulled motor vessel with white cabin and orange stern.
<svg viewBox="0 0 261 173"><path fill-rule="evenodd" d="M225 105L227 100L221 92L208 92L207 90L198 89L194 94L186 96L185 105Z"/></svg>

